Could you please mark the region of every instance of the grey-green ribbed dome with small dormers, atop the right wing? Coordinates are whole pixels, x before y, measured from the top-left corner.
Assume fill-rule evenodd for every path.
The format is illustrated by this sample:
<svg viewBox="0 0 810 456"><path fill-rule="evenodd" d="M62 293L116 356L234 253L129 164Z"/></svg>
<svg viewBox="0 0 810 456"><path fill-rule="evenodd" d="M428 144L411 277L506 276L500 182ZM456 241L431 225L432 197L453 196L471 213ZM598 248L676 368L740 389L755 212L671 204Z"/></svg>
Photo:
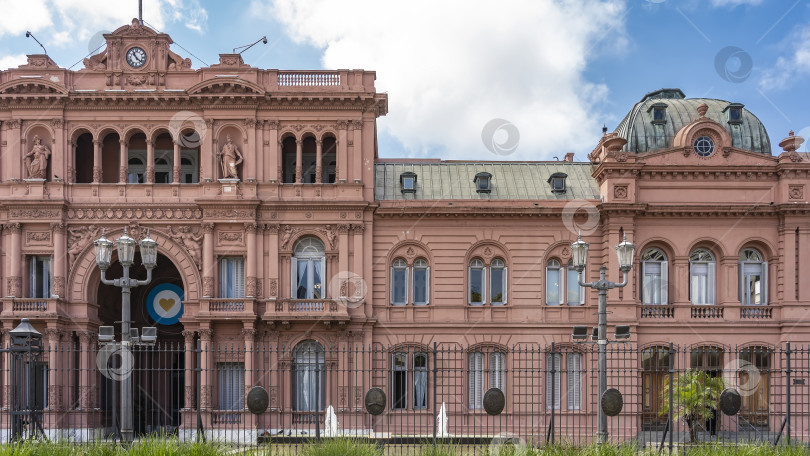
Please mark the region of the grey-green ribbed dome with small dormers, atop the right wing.
<svg viewBox="0 0 810 456"><path fill-rule="evenodd" d="M697 120L697 107L706 103L706 117L719 123L731 136L733 147L771 155L765 126L740 103L713 98L686 98L680 89L650 92L616 127L627 140L625 152L644 153L672 147L678 131Z"/></svg>

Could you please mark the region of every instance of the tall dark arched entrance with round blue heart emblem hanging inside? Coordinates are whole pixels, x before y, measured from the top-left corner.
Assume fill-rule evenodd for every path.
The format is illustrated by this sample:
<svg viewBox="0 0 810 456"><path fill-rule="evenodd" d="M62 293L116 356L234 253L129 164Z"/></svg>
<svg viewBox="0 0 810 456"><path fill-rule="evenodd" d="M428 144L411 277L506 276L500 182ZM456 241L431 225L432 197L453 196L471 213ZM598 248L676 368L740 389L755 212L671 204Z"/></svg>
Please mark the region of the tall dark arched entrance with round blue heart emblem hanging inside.
<svg viewBox="0 0 810 456"><path fill-rule="evenodd" d="M107 278L123 276L121 263L114 262L107 270ZM145 279L146 268L141 264L140 253L135 254L135 261L130 268L130 278ZM152 271L152 282L149 285L131 290L131 318L133 328L145 326L157 327L157 344L154 347L135 347L133 349L134 365L132 369L132 388L134 396L134 430L136 434L159 431L173 431L180 425L180 410L185 407L185 347L183 343L183 325L179 322L170 324L156 319L156 306L163 306L176 315L180 302L171 299L159 299L160 291L176 287L182 293L183 278L172 261L158 254L157 265ZM121 289L112 285L98 285L99 318L104 325L114 326L116 340L120 340L121 330ZM161 302L162 301L162 302ZM150 306L153 308L150 312ZM158 316L158 318L160 318ZM191 355L189 355L191 356ZM112 426L118 417L113 417L113 400L119 401L119 386L114 379L100 378L101 407L105 410L106 421ZM116 402L120 404L120 402Z"/></svg>

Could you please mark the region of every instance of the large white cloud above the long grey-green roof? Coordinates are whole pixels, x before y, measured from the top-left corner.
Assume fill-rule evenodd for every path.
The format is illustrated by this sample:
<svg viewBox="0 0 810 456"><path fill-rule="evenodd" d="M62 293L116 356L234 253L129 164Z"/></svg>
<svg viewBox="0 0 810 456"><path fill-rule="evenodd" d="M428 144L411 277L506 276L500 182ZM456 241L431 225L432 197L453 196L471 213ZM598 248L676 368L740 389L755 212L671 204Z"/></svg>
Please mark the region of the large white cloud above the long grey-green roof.
<svg viewBox="0 0 810 456"><path fill-rule="evenodd" d="M297 42L323 48L326 68L377 72L389 93L380 129L409 155L550 159L590 152L601 134L603 84L589 59L626 42L621 0L379 2L254 0ZM520 145L502 157L481 130L514 123ZM381 156L388 156L385 150Z"/></svg>

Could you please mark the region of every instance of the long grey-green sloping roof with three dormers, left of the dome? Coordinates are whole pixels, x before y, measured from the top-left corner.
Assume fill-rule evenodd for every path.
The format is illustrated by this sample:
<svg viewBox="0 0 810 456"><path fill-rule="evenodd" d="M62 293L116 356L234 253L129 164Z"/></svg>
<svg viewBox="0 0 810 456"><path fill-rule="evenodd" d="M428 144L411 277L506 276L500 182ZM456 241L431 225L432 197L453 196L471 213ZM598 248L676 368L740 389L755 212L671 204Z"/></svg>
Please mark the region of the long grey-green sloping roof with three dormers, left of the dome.
<svg viewBox="0 0 810 456"><path fill-rule="evenodd" d="M416 173L416 192L402 193L399 176ZM492 174L491 192L478 193L476 173ZM566 192L553 193L548 178L565 173ZM590 163L407 161L375 164L376 200L573 200L599 199Z"/></svg>

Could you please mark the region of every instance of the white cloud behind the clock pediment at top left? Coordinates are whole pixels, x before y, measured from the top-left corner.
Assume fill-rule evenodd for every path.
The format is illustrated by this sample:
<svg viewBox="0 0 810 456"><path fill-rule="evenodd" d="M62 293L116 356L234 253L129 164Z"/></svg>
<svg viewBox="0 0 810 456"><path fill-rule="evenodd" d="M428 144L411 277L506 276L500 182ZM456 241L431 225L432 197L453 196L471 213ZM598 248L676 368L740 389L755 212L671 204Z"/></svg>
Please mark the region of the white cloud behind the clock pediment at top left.
<svg viewBox="0 0 810 456"><path fill-rule="evenodd" d="M144 20L158 29L168 22L202 31L208 14L198 0L145 0ZM48 45L68 47L87 41L100 31L115 30L138 16L136 2L109 0L6 1L0 15L0 37L30 30Z"/></svg>

